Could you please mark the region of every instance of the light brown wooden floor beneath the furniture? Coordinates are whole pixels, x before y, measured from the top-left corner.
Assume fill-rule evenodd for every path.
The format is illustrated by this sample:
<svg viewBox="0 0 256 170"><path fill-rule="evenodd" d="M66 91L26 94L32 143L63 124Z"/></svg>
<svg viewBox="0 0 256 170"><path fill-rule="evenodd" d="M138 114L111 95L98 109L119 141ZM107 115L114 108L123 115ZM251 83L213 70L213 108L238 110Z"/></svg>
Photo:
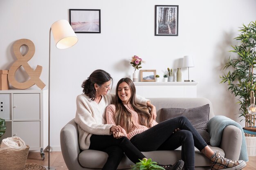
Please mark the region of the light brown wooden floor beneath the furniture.
<svg viewBox="0 0 256 170"><path fill-rule="evenodd" d="M48 152L45 152L45 160L41 160L40 152L29 152L27 163L48 166ZM50 153L50 166L56 168L56 170L68 170L61 152ZM249 162L243 170L256 170L256 156L249 157Z"/></svg>

